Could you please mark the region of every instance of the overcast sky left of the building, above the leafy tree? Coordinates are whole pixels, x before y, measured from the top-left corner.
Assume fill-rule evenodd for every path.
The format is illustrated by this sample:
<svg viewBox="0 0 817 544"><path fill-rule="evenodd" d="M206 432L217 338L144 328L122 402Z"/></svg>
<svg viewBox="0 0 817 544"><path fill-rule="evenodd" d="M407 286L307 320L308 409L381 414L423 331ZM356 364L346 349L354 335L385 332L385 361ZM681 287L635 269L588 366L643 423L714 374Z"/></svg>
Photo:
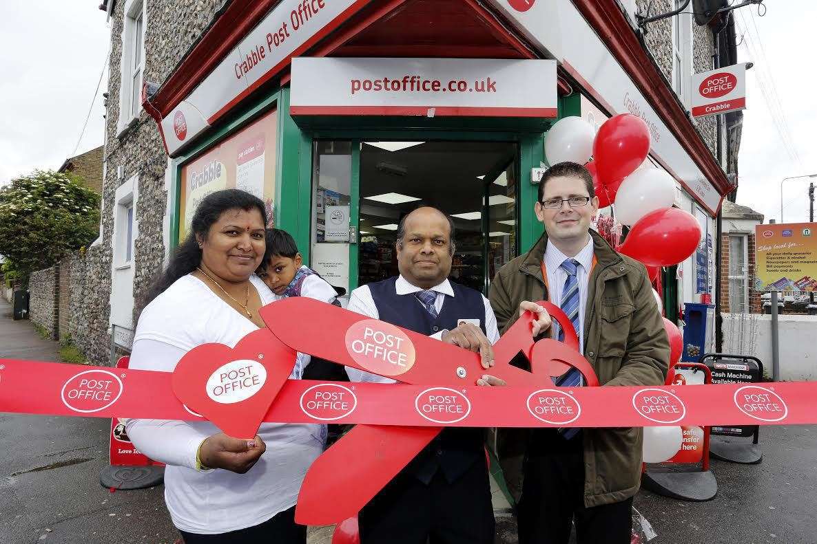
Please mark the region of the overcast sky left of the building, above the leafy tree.
<svg viewBox="0 0 817 544"><path fill-rule="evenodd" d="M0 184L100 146L110 30L99 0L0 0Z"/></svg>

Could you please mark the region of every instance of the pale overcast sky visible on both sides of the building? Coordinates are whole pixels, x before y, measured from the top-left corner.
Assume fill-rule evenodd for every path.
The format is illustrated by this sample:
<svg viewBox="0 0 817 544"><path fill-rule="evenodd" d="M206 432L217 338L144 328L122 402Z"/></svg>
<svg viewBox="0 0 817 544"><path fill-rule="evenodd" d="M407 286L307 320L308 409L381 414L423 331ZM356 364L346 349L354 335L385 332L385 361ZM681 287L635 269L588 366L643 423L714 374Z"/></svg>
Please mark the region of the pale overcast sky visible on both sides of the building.
<svg viewBox="0 0 817 544"><path fill-rule="evenodd" d="M74 148L83 153L102 144L102 93L107 71L91 105L100 71L107 66L109 46L109 25L105 13L97 9L99 3L2 0L0 184L34 168L59 168L74 154ZM736 17L739 28L750 31L739 46L739 59L755 64L748 72L738 202L766 215L766 219L779 219L780 180L817 173L817 101L813 99L817 73L810 61L817 46L817 2L766 0L764 4L763 17L757 15L757 7L740 8ZM771 108L764 90L773 103ZM782 105L787 120L788 129L781 130L791 140L789 145L784 145L775 128L773 119L781 119L777 104ZM78 143L89 107L91 118ZM784 124L782 120L780 123ZM790 157L792 147L799 161ZM808 219L809 181L785 182L787 222Z"/></svg>

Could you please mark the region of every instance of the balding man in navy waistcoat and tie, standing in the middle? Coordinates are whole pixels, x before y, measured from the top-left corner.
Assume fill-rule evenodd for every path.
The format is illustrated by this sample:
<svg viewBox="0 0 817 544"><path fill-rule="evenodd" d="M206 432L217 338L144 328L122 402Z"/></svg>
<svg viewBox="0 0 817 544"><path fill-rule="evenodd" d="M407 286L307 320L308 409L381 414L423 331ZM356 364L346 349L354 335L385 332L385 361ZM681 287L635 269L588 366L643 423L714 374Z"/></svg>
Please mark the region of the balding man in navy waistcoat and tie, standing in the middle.
<svg viewBox="0 0 817 544"><path fill-rule="evenodd" d="M488 299L449 281L454 224L431 207L413 210L397 229L400 276L352 291L349 309L479 352L493 365L499 339ZM352 381L394 380L346 369ZM483 376L480 385L502 385ZM362 544L493 542L493 507L484 430L449 427L368 502L359 516Z"/></svg>

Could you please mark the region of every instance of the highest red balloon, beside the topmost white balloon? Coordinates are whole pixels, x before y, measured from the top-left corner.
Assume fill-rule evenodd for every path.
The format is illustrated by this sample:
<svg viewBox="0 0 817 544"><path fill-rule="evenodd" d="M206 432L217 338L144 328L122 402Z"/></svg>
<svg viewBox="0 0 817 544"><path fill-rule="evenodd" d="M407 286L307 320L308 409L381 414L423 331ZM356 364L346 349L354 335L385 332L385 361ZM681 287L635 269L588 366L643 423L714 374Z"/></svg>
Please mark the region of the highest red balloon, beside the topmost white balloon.
<svg viewBox="0 0 817 544"><path fill-rule="evenodd" d="M610 117L593 140L593 161L599 181L610 192L610 201L624 178L636 171L650 153L650 130L632 113Z"/></svg>

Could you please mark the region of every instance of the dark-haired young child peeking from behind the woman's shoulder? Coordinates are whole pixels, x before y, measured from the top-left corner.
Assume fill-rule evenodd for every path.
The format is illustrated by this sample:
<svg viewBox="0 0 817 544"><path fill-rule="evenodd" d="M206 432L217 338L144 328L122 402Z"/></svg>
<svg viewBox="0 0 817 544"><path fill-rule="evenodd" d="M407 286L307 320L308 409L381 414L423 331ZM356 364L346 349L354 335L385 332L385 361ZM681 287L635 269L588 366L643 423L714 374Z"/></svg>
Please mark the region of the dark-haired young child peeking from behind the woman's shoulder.
<svg viewBox="0 0 817 544"><path fill-rule="evenodd" d="M280 228L266 230L266 253L258 276L273 293L283 297L309 297L340 306L337 295L346 292L303 266L295 239Z"/></svg>

